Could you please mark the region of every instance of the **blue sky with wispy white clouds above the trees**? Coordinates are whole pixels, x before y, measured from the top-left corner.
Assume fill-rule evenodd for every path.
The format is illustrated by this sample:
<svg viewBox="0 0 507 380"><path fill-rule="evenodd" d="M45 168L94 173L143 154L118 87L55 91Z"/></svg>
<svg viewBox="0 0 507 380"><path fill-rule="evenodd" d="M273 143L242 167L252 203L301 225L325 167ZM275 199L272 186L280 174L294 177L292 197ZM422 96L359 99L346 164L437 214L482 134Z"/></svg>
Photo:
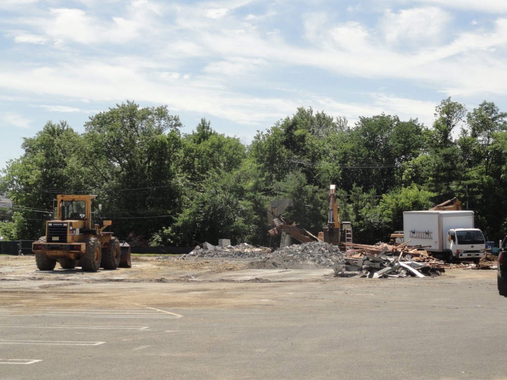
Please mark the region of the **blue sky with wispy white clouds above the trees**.
<svg viewBox="0 0 507 380"><path fill-rule="evenodd" d="M245 144L299 107L505 112L506 48L504 0L2 0L0 168L48 121L83 133L127 100Z"/></svg>

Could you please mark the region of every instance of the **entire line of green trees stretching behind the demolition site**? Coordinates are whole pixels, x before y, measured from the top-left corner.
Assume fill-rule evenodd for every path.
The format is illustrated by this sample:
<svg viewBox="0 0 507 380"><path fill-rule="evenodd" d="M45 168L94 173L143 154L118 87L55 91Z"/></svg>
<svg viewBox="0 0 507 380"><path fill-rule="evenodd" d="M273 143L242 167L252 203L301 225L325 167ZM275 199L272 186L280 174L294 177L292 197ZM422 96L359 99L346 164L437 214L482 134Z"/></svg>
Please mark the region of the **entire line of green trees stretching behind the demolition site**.
<svg viewBox="0 0 507 380"><path fill-rule="evenodd" d="M397 116L359 117L354 126L312 108L258 131L249 144L202 119L183 133L166 106L126 101L89 118L77 133L47 122L23 140L2 170L0 193L14 213L6 239L36 239L56 194L96 194L100 217L135 245L192 246L220 238L275 246L267 204L292 198L284 218L317 234L336 184L340 217L354 240L386 241L403 212L458 197L489 239L507 232L507 113L483 101L473 111L444 99L430 127Z"/></svg>

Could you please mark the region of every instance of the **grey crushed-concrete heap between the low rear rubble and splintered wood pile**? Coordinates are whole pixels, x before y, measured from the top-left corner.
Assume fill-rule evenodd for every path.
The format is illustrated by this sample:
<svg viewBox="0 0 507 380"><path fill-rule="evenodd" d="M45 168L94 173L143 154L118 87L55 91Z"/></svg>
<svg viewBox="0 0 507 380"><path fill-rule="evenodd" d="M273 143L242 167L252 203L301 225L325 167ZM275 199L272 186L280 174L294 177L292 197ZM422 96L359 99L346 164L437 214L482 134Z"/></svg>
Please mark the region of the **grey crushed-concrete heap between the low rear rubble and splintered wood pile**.
<svg viewBox="0 0 507 380"><path fill-rule="evenodd" d="M296 244L279 248L262 260L251 262L249 267L254 269L311 269L332 267L335 262L343 258L343 252L338 246L323 241Z"/></svg>

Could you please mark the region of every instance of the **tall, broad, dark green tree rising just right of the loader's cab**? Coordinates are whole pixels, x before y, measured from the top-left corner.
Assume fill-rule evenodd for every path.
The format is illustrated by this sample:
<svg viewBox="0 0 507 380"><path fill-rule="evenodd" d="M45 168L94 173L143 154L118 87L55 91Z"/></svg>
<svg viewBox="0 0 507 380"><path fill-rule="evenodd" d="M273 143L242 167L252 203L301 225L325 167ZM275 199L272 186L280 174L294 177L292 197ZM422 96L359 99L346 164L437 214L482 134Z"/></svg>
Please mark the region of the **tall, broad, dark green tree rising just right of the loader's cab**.
<svg viewBox="0 0 507 380"><path fill-rule="evenodd" d="M132 101L85 124L83 163L93 168L89 182L119 236L148 240L178 214L186 183L178 167L181 126L166 106Z"/></svg>

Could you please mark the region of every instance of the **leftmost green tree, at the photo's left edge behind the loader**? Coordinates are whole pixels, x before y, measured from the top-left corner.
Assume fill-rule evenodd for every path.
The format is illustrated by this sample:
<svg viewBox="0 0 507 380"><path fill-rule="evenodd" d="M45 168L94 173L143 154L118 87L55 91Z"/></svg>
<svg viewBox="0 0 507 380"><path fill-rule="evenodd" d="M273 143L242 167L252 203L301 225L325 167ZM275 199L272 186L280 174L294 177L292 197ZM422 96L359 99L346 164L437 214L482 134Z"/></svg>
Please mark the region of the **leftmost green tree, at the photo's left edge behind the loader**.
<svg viewBox="0 0 507 380"><path fill-rule="evenodd" d="M47 122L34 137L21 145L23 155L8 162L2 188L18 208L23 223L16 223L19 239L38 238L58 192L81 192L87 188L87 168L78 159L80 135L65 121Z"/></svg>

